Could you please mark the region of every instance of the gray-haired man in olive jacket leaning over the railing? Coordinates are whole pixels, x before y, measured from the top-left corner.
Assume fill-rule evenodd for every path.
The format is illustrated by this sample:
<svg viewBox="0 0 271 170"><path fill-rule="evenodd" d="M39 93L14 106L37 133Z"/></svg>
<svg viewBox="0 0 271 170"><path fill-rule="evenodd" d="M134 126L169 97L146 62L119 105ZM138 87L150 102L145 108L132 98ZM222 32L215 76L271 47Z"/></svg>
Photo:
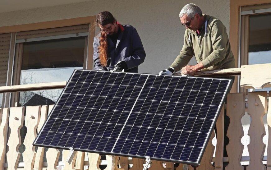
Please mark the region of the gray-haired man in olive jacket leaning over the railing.
<svg viewBox="0 0 271 170"><path fill-rule="evenodd" d="M227 30L220 20L202 14L200 7L193 3L184 6L179 17L186 27L184 45L172 65L159 72L160 76L172 75L180 70L182 75L192 76L198 70L235 67ZM187 65L193 56L198 64Z"/></svg>

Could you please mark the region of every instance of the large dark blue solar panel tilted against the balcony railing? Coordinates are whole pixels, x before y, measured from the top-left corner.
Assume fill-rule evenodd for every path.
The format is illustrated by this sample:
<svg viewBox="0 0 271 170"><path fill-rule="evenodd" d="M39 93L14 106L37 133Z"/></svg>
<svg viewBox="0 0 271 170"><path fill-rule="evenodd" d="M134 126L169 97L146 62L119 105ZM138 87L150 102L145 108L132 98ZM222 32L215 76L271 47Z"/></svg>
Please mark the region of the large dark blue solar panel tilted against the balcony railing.
<svg viewBox="0 0 271 170"><path fill-rule="evenodd" d="M230 85L75 70L33 145L198 166Z"/></svg>

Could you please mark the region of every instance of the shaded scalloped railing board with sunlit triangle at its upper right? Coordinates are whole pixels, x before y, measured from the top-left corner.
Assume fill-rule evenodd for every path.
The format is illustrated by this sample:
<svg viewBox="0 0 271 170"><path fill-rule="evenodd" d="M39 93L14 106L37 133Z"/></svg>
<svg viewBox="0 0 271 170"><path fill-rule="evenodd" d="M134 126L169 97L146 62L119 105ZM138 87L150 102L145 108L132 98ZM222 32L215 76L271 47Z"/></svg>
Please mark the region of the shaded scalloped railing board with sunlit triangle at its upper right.
<svg viewBox="0 0 271 170"><path fill-rule="evenodd" d="M247 145L250 164L246 167L247 170L266 168L262 162L265 150L263 116L266 113L266 97L266 91L248 92L247 112L250 115L251 123L248 130L250 144Z"/></svg>

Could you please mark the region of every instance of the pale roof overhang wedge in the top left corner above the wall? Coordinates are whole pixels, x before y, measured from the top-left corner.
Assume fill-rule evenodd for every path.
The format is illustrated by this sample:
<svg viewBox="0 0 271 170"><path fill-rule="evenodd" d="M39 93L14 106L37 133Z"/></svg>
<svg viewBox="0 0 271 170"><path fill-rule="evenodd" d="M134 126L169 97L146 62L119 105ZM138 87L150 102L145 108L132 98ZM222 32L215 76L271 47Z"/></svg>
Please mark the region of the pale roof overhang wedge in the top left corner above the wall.
<svg viewBox="0 0 271 170"><path fill-rule="evenodd" d="M0 13L95 0L0 0Z"/></svg>

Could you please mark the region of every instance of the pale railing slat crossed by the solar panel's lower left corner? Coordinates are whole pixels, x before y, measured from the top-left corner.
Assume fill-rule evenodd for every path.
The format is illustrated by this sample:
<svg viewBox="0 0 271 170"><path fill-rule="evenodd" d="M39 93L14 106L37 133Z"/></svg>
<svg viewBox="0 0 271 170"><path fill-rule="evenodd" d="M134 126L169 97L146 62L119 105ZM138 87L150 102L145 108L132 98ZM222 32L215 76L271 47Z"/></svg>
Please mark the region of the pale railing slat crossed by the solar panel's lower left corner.
<svg viewBox="0 0 271 170"><path fill-rule="evenodd" d="M39 124L38 124L38 133L41 130L44 122L47 119L47 113L48 113L48 106L44 105L41 107L41 112L40 112L40 119L39 119ZM36 156L35 156L35 161L34 161L34 170L42 170L43 167L43 155L44 155L44 147L38 147Z"/></svg>

